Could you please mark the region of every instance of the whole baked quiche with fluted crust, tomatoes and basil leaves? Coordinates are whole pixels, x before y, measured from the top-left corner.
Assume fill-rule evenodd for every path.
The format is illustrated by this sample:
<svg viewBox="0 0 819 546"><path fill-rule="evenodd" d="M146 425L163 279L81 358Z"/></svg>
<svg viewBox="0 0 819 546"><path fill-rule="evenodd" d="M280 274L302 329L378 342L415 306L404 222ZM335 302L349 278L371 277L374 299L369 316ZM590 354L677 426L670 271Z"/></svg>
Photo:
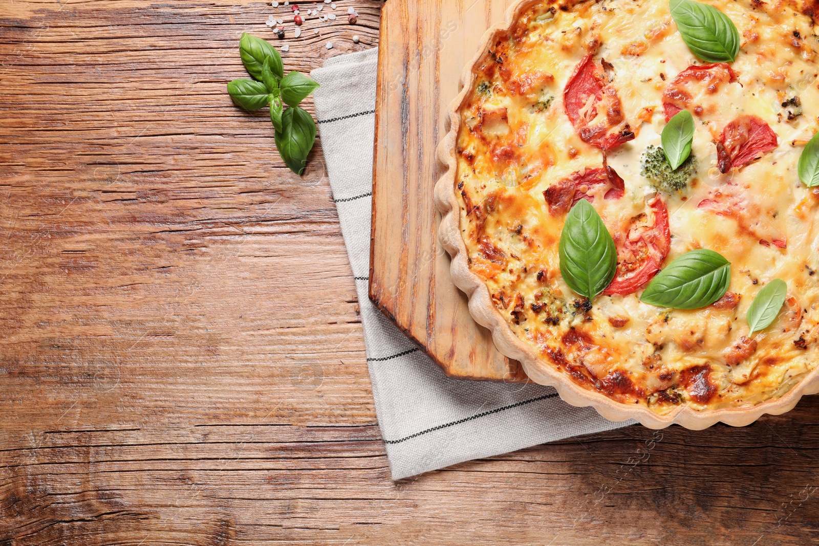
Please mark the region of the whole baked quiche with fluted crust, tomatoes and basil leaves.
<svg viewBox="0 0 819 546"><path fill-rule="evenodd" d="M789 0L525 0L487 31L439 147L440 237L473 317L533 381L691 428L819 391L813 16ZM563 246L592 220L580 251L608 254L588 292ZM717 262L691 273L695 258Z"/></svg>

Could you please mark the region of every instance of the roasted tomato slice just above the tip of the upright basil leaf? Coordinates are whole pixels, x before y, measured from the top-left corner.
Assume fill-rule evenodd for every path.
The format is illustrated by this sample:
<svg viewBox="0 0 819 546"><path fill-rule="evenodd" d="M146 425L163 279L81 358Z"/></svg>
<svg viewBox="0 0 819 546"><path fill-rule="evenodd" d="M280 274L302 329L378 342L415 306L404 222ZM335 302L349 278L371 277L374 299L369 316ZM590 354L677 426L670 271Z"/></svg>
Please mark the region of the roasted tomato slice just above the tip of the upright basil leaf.
<svg viewBox="0 0 819 546"><path fill-rule="evenodd" d="M550 214L563 214L581 199L594 202L595 190L598 187L601 187L600 192L604 199L619 199L626 192L626 185L620 175L609 165L605 165L583 172L577 171L546 188L543 196L546 205L549 205Z"/></svg>

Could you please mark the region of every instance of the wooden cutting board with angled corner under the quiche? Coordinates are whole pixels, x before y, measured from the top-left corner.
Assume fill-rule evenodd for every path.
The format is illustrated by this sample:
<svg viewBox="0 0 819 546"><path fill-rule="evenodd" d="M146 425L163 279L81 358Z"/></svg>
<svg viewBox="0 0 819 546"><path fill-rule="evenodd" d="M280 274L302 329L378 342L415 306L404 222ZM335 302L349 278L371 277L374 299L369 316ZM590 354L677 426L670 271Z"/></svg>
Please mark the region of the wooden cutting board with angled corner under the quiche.
<svg viewBox="0 0 819 546"><path fill-rule="evenodd" d="M446 107L482 35L512 2L388 0L381 14L369 297L450 377L527 381L452 284L432 201Z"/></svg>

